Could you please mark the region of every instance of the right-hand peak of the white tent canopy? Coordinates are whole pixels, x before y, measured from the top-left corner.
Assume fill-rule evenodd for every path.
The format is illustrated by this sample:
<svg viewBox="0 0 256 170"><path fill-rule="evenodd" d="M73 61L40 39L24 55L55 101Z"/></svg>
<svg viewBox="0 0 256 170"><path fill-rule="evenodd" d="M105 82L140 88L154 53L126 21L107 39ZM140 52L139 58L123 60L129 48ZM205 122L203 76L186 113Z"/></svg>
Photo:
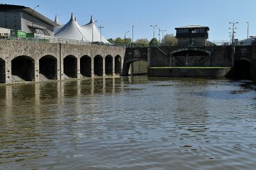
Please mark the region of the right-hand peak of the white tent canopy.
<svg viewBox="0 0 256 170"><path fill-rule="evenodd" d="M89 41L92 41L92 31L93 31L93 41L99 41L100 42L100 31L97 29L97 26L96 26L96 24L95 24L95 22L93 20L92 15L91 15L90 22L88 24L86 24L86 25L83 25L82 28L86 32L88 32L88 34L90 35L88 37ZM109 43L109 41L106 38L104 38L103 36L102 36L101 40L102 40L102 43Z"/></svg>

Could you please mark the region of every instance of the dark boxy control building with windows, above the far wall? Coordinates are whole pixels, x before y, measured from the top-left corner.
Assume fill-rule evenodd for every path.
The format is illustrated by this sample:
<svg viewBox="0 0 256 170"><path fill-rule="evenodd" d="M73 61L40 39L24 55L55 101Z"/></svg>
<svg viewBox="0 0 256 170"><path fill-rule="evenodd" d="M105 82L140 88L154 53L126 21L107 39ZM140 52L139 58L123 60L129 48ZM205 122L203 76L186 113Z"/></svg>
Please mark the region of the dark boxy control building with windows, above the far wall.
<svg viewBox="0 0 256 170"><path fill-rule="evenodd" d="M176 27L176 38L179 46L205 46L207 45L209 27L188 25Z"/></svg>

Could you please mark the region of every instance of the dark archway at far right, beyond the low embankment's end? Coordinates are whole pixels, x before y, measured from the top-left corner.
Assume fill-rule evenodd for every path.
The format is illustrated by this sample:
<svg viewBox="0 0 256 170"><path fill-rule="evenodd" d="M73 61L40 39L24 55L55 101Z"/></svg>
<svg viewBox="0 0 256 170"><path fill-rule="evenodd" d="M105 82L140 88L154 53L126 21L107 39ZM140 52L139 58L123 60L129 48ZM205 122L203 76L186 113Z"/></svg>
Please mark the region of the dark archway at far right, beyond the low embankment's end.
<svg viewBox="0 0 256 170"><path fill-rule="evenodd" d="M237 60L235 62L235 78L250 79L251 76L251 62L248 60Z"/></svg>

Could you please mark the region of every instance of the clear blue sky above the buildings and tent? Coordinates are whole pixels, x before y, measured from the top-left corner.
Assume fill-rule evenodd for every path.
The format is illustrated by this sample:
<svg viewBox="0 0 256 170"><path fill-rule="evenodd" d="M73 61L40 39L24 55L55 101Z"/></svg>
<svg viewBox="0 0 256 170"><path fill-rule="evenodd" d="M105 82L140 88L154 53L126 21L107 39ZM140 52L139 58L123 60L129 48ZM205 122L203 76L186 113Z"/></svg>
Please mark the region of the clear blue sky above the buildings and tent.
<svg viewBox="0 0 256 170"><path fill-rule="evenodd" d="M175 34L175 27L185 25L203 25L209 27L210 41L228 41L232 27L229 22L239 22L235 25L237 39L256 36L256 1L255 0L0 0L0 3L19 4L34 8L45 17L66 24L71 13L80 25L90 22L90 16L97 20L96 25L102 25L102 35L105 38L132 38L134 26L134 41L139 38L153 38L153 27L157 25L164 34ZM249 22L247 25L246 22ZM159 29L155 29L158 38ZM162 32L161 32L162 36Z"/></svg>

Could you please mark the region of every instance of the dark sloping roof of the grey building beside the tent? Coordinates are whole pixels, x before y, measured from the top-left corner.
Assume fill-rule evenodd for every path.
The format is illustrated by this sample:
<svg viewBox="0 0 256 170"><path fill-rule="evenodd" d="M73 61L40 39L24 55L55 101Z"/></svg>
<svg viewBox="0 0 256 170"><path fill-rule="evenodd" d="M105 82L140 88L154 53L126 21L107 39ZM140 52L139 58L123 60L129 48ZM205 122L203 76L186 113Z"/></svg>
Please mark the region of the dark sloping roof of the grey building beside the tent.
<svg viewBox="0 0 256 170"><path fill-rule="evenodd" d="M56 22L50 20L49 18L45 17L44 15L36 12L35 10L33 11L31 8L26 7L26 6L20 6L20 5L13 5L13 4L0 4L0 11L11 11L11 10L22 10L25 11L26 13L29 13L30 15L33 15L34 17L43 20L44 22L46 22L47 24L50 24L52 26L58 26L59 24L57 24Z"/></svg>

